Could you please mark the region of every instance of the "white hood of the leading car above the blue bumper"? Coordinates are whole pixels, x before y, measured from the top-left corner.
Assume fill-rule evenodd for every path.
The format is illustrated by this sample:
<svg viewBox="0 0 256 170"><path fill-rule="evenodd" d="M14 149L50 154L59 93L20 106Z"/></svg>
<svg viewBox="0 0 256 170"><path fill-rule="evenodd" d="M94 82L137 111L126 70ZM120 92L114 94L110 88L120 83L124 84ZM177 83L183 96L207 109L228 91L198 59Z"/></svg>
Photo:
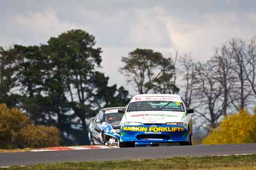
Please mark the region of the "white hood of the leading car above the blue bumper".
<svg viewBox="0 0 256 170"><path fill-rule="evenodd" d="M182 111L130 111L125 116L127 122L165 124L168 122L183 122L185 113Z"/></svg>

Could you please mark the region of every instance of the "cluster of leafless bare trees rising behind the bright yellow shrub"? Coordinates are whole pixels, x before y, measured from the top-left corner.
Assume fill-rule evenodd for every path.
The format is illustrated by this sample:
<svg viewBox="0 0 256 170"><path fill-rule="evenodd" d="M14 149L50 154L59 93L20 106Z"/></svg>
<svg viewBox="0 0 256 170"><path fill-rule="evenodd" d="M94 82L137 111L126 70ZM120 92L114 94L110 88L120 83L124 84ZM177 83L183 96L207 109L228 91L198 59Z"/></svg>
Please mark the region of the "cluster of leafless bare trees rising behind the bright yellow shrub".
<svg viewBox="0 0 256 170"><path fill-rule="evenodd" d="M256 98L256 37L228 41L205 63L184 55L179 66L184 100L195 108L199 126L209 131L228 113L250 108L250 99Z"/></svg>

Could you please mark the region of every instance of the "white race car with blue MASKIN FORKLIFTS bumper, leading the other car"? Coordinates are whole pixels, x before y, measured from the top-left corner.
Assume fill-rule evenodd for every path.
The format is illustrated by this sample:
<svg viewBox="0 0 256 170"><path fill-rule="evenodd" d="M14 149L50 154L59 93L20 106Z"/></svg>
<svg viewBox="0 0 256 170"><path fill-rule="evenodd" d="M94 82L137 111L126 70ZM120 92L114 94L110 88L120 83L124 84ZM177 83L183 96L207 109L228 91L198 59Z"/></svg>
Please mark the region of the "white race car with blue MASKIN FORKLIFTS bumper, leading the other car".
<svg viewBox="0 0 256 170"><path fill-rule="evenodd" d="M180 143L192 145L194 111L173 94L132 97L121 121L120 147Z"/></svg>

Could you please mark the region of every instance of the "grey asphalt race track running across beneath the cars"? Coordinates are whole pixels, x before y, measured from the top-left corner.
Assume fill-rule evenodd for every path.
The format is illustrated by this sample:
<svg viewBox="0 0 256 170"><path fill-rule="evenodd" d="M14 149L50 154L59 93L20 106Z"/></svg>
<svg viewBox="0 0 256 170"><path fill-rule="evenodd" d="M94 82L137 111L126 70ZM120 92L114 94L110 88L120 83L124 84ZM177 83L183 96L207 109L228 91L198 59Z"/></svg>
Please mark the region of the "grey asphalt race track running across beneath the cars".
<svg viewBox="0 0 256 170"><path fill-rule="evenodd" d="M154 146L95 150L0 153L0 167L88 160L149 159L173 156L236 155L256 153L256 143L241 145Z"/></svg>

